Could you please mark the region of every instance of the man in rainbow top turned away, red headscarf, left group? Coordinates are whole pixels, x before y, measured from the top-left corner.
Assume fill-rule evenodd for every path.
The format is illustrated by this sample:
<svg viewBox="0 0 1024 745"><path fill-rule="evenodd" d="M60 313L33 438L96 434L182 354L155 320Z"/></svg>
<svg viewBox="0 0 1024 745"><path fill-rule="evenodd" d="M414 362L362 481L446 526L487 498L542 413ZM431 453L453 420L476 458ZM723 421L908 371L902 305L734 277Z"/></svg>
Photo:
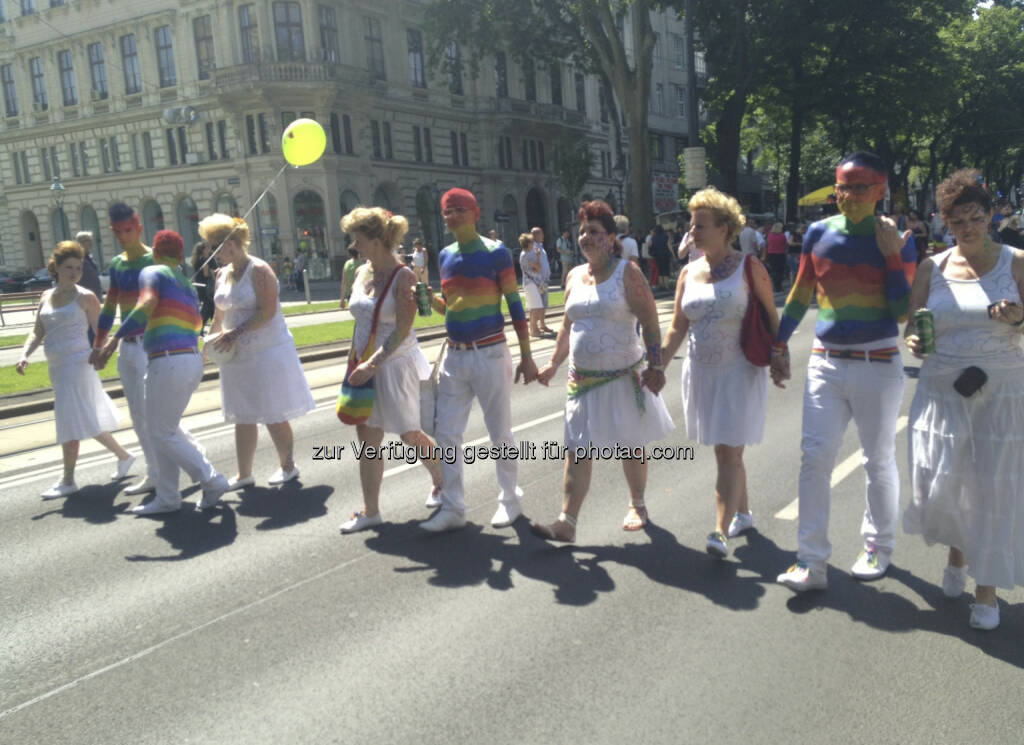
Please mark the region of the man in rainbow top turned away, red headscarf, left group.
<svg viewBox="0 0 1024 745"><path fill-rule="evenodd" d="M173 230L161 230L153 240L154 263L139 272L138 302L122 316L115 340L143 335L148 369L145 377L145 421L156 454L157 495L132 510L159 515L181 508L178 472L183 469L203 485L201 509L217 503L227 479L207 461L191 435L181 429L181 414L203 380L203 358L197 338L203 327L199 296L181 273L184 245ZM106 361L102 356L101 362Z"/></svg>

